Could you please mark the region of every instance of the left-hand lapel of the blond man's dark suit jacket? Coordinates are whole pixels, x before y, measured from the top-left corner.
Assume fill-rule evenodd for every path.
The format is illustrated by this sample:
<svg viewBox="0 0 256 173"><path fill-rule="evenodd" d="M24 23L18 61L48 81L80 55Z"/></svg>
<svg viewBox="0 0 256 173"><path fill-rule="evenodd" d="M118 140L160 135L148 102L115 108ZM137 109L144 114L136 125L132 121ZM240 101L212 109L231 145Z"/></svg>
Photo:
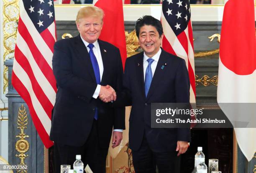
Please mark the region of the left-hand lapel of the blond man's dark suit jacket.
<svg viewBox="0 0 256 173"><path fill-rule="evenodd" d="M96 82L90 55L87 51L87 48L84 45L84 42L82 41L82 39L80 37L80 35L78 35L75 38L75 46L74 47L78 51L78 57L81 59L81 63L83 63L87 66L87 68L85 68L85 69L88 69L90 76L92 77L92 80L94 80Z"/></svg>

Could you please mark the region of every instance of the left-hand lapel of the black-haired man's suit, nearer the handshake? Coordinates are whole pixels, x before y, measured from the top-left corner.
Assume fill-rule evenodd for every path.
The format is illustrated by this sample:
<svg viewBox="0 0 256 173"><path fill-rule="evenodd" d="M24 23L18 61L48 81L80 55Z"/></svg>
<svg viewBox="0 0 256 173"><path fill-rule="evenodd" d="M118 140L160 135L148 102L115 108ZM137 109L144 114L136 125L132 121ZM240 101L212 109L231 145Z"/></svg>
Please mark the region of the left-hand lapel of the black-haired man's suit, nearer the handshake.
<svg viewBox="0 0 256 173"><path fill-rule="evenodd" d="M141 53L141 55L137 59L136 73L138 76L138 84L141 88L141 92L142 92L144 98L146 98L145 86L144 86L144 72L143 72L143 53Z"/></svg>

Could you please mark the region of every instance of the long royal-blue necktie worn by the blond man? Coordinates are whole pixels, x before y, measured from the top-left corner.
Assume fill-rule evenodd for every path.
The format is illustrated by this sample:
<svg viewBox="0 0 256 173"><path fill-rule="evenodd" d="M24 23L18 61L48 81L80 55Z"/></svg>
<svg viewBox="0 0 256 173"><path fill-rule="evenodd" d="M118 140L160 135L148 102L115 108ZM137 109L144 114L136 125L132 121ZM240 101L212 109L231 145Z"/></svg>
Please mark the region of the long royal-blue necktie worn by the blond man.
<svg viewBox="0 0 256 173"><path fill-rule="evenodd" d="M90 58L91 58L92 68L93 68L94 75L95 75L95 78L96 78L96 83L100 84L100 68L99 68L99 64L98 64L98 61L96 59L96 56L94 55L93 50L92 50L94 45L92 43L90 43L87 47L90 48L89 55L90 55ZM97 109L97 107L95 108L94 119L98 120L98 109Z"/></svg>

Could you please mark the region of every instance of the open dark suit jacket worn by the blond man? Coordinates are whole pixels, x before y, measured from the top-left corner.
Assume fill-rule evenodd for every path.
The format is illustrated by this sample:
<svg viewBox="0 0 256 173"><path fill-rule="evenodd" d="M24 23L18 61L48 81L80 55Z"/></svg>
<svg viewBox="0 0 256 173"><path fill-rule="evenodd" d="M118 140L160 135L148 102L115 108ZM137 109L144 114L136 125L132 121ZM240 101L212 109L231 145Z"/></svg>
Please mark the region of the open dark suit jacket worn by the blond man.
<svg viewBox="0 0 256 173"><path fill-rule="evenodd" d="M98 40L104 71L101 85L117 92L122 87L123 67L119 49ZM82 146L98 109L100 146L108 148L112 129L125 129L125 107L113 108L92 95L97 87L89 53L78 35L57 41L52 60L58 91L52 114L50 139L65 145Z"/></svg>

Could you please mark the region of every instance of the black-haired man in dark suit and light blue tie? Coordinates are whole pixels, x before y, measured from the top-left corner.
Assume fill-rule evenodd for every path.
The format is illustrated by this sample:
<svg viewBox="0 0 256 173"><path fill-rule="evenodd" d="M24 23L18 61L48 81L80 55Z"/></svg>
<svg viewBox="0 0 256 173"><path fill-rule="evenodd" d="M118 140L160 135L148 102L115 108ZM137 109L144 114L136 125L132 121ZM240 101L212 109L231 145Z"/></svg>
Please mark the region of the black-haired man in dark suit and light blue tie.
<svg viewBox="0 0 256 173"><path fill-rule="evenodd" d="M190 141L189 128L151 128L151 103L189 103L185 61L164 51L159 20L145 15L136 22L143 52L126 59L124 91L116 102L132 105L129 147L136 173L179 172L179 155ZM121 100L121 101L120 101Z"/></svg>

